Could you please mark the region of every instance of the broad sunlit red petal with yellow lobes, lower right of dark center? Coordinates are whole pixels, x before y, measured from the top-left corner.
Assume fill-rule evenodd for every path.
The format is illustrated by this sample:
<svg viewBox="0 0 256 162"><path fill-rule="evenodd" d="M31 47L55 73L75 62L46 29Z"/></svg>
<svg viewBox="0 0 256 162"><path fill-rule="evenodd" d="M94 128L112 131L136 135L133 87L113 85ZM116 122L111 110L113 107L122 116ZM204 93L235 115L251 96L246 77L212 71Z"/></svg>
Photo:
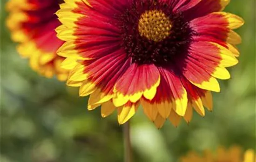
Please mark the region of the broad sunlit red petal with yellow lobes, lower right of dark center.
<svg viewBox="0 0 256 162"><path fill-rule="evenodd" d="M238 62L227 48L210 42L191 44L185 60L183 75L195 86L215 92L220 91L215 77L229 79L229 72L224 67L233 66Z"/></svg>

